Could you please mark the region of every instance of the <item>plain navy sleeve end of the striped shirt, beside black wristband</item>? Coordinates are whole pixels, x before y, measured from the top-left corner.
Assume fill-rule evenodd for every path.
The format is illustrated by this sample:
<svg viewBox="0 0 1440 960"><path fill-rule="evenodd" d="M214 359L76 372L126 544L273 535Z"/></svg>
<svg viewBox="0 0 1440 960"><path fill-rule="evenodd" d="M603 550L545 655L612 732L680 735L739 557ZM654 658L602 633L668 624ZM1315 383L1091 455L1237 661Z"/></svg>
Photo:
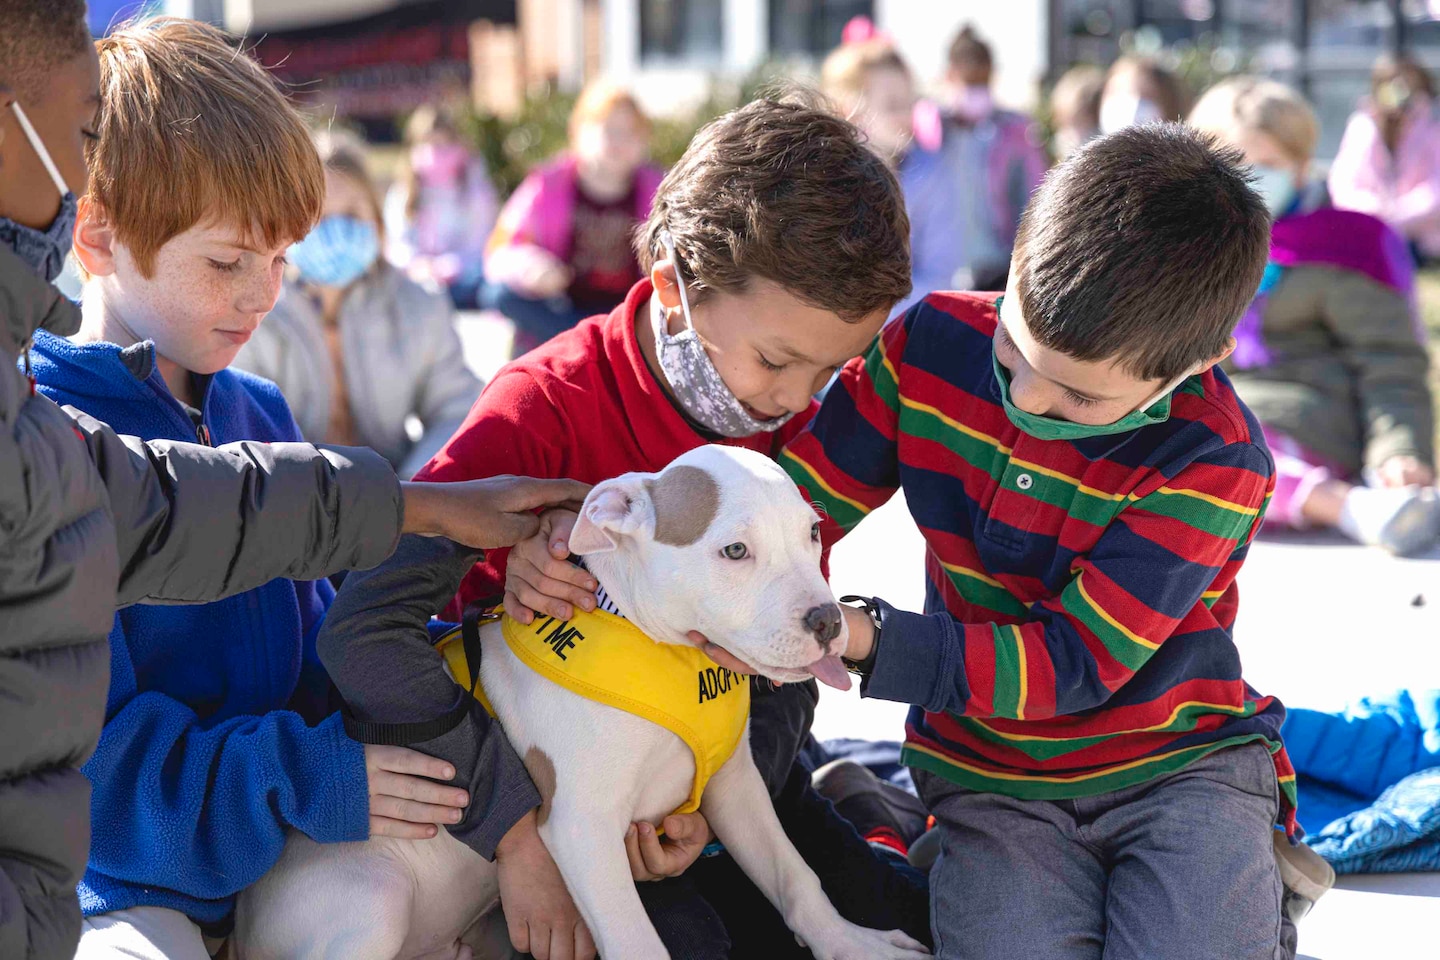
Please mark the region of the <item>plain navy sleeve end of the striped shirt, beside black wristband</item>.
<svg viewBox="0 0 1440 960"><path fill-rule="evenodd" d="M860 684L861 697L913 704L927 711L960 710L969 699L965 643L949 613L909 613L884 600L876 668ZM950 694L958 704L950 699Z"/></svg>

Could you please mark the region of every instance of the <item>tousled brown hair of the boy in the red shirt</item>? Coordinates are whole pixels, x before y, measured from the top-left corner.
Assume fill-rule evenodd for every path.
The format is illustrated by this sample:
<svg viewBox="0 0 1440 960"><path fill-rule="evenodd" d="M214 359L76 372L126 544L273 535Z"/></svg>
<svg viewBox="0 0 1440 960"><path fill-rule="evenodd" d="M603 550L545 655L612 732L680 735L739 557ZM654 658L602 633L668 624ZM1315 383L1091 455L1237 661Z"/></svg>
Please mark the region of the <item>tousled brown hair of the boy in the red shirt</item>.
<svg viewBox="0 0 1440 960"><path fill-rule="evenodd" d="M665 230L697 299L762 276L854 322L910 292L900 184L814 95L760 98L706 124L638 232L647 272Z"/></svg>

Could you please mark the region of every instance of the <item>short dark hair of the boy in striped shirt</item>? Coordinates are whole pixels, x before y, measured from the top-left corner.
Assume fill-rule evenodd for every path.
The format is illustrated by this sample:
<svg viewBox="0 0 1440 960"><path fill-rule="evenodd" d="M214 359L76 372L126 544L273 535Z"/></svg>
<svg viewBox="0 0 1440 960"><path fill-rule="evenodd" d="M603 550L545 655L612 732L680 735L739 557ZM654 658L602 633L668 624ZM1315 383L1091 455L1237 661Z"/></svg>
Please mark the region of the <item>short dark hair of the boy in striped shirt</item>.
<svg viewBox="0 0 1440 960"><path fill-rule="evenodd" d="M1171 380L1225 350L1269 250L1240 154L1143 124L1050 171L1020 220L1014 285L1041 345Z"/></svg>

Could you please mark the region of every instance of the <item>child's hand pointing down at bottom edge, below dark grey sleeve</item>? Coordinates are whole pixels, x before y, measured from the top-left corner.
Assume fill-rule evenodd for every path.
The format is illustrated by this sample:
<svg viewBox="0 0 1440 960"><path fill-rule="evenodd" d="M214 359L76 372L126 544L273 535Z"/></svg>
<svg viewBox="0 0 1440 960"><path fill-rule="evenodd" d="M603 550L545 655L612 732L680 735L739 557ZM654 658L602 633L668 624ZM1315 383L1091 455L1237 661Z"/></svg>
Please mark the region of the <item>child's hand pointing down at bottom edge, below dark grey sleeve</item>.
<svg viewBox="0 0 1440 960"><path fill-rule="evenodd" d="M595 940L540 839L534 810L495 845L495 866L500 908L516 950L536 960L595 960Z"/></svg>

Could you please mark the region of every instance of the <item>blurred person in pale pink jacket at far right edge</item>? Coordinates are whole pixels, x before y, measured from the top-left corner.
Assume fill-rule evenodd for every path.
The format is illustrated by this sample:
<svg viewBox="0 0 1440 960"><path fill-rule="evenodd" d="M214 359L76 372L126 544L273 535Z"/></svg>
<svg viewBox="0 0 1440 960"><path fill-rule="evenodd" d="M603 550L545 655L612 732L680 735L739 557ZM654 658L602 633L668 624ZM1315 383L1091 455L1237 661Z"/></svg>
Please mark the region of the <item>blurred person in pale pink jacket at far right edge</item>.
<svg viewBox="0 0 1440 960"><path fill-rule="evenodd" d="M1440 115L1414 60L1382 56L1331 167L1335 206L1385 220L1420 262L1440 258Z"/></svg>

